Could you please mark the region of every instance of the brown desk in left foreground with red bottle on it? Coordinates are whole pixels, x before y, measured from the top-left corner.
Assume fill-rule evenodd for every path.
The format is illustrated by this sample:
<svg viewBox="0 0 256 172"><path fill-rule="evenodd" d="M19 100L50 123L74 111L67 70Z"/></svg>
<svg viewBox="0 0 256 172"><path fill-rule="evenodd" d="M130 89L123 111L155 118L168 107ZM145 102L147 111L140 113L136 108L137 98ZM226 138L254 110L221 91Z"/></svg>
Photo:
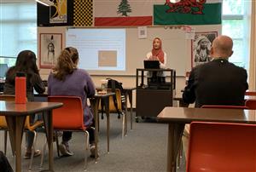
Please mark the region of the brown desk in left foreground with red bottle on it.
<svg viewBox="0 0 256 172"><path fill-rule="evenodd" d="M27 115L37 112L45 112L44 127L49 147L49 170L53 168L53 126L52 110L61 107L62 103L49 102L26 102L26 104L15 104L13 101L0 101L0 115L5 116L9 129L9 137L12 149L15 151L15 169L21 171L21 140L24 123Z"/></svg>

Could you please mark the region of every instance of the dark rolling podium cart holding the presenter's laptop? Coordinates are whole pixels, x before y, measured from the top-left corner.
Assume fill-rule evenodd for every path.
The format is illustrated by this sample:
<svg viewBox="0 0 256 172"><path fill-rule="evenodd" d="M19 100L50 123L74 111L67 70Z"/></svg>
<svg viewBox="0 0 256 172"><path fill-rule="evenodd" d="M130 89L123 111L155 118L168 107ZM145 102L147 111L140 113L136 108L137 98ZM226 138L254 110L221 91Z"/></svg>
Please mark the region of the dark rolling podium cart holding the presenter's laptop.
<svg viewBox="0 0 256 172"><path fill-rule="evenodd" d="M148 72L154 73L154 82L148 77ZM156 117L166 106L172 106L175 87L176 71L173 69L137 69L136 122L138 117Z"/></svg>

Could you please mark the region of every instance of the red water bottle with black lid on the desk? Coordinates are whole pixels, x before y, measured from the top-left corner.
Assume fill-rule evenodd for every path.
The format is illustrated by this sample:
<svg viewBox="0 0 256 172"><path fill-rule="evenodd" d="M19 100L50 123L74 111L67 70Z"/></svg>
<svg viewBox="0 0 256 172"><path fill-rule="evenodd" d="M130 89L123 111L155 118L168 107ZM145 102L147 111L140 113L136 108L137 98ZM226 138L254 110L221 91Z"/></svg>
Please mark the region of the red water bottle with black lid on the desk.
<svg viewBox="0 0 256 172"><path fill-rule="evenodd" d="M15 103L26 103L26 76L23 72L17 72L15 77Z"/></svg>

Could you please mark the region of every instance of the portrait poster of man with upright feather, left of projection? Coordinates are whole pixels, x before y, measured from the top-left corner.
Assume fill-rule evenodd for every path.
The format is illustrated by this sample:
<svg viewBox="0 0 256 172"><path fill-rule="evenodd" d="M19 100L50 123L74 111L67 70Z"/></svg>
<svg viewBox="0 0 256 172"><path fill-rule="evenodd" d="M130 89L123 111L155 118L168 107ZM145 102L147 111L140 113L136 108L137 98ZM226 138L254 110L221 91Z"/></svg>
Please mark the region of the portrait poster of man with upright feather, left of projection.
<svg viewBox="0 0 256 172"><path fill-rule="evenodd" d="M39 67L50 69L55 66L56 60L61 54L61 49L61 33L40 33Z"/></svg>

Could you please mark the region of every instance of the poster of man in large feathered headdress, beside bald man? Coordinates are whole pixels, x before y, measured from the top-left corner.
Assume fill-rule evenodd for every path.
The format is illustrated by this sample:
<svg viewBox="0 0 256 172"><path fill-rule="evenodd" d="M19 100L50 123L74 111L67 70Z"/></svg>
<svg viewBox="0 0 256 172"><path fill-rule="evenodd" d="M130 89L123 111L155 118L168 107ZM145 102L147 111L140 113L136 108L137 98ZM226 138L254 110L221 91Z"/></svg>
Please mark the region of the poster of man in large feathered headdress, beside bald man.
<svg viewBox="0 0 256 172"><path fill-rule="evenodd" d="M191 41L191 67L195 67L211 60L212 41L218 37L218 32L195 32L195 39Z"/></svg>

